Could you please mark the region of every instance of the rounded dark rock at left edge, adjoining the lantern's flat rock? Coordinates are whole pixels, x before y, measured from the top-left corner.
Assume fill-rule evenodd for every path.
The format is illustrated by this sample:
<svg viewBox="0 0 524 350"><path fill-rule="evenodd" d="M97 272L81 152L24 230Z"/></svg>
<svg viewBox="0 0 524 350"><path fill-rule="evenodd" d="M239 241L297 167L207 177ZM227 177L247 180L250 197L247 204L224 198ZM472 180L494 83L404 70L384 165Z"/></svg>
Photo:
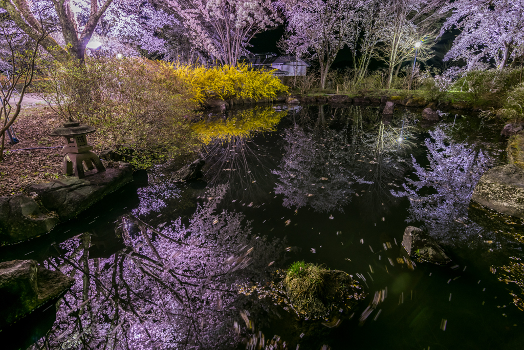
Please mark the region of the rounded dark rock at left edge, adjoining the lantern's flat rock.
<svg viewBox="0 0 524 350"><path fill-rule="evenodd" d="M0 246L46 234L60 220L43 214L36 201L21 193L0 197Z"/></svg>

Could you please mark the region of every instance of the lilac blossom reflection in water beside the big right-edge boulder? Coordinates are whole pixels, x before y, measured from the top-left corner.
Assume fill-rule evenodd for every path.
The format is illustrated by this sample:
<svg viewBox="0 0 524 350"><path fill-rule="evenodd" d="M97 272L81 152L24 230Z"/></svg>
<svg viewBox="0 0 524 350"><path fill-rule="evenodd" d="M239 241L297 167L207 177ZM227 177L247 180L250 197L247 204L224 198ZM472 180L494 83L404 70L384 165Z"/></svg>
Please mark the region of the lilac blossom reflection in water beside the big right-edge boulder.
<svg viewBox="0 0 524 350"><path fill-rule="evenodd" d="M397 197L410 200L407 221L422 221L424 228L436 238L475 235L481 228L468 225L467 207L473 189L492 164L482 150L465 143L445 143L446 134L439 128L429 132L425 140L429 166L422 167L413 157L414 174L418 180L406 178L404 191L394 192ZM462 237L465 238L465 237Z"/></svg>

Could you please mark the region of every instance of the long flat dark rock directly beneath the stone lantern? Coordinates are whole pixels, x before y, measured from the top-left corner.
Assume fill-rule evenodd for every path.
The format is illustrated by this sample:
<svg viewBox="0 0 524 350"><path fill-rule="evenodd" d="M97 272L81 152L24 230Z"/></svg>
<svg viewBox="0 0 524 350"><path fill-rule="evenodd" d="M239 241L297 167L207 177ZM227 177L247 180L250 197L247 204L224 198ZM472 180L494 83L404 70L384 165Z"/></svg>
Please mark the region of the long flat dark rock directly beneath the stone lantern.
<svg viewBox="0 0 524 350"><path fill-rule="evenodd" d="M117 163L103 173L86 172L84 178L73 176L42 184L31 185L28 192L36 192L43 207L67 221L102 199L117 188L133 181L131 165Z"/></svg>

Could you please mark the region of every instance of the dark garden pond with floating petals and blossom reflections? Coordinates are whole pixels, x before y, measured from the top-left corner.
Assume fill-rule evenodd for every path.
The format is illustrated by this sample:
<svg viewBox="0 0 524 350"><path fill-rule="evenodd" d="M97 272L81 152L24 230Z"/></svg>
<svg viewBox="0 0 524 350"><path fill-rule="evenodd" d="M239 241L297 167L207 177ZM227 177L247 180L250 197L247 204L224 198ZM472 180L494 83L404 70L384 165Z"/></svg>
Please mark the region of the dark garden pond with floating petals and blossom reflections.
<svg viewBox="0 0 524 350"><path fill-rule="evenodd" d="M33 348L520 348L522 222L470 204L482 172L506 162L501 125L282 108L206 111L195 125L201 179L177 184L153 169L148 184L4 247L2 260L35 259L77 280L56 309L22 322L13 348L42 336ZM410 263L409 225L452 263ZM298 320L285 304L238 293L297 260L352 274L367 297Z"/></svg>

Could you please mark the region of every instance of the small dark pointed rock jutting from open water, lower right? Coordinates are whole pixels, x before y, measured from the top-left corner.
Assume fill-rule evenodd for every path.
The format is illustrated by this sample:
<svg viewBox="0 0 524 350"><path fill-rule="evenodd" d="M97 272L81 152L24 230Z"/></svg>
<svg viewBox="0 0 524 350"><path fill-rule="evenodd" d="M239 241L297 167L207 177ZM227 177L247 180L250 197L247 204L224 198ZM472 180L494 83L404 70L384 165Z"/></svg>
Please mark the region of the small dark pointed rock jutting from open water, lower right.
<svg viewBox="0 0 524 350"><path fill-rule="evenodd" d="M420 228L414 226L406 227L402 238L402 247L406 249L409 256L419 260L442 265L451 262L439 244L425 234Z"/></svg>

